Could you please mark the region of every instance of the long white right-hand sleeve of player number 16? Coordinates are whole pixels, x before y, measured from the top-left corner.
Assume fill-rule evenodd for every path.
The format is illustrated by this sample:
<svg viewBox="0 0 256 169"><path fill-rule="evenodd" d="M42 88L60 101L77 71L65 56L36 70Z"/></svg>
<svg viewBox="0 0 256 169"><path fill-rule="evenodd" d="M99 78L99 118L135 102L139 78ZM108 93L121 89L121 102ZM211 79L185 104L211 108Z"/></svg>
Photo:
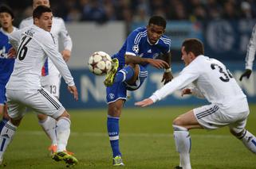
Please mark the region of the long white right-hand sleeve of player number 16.
<svg viewBox="0 0 256 169"><path fill-rule="evenodd" d="M57 67L57 70L60 71L62 77L65 79L65 83L67 83L69 86L74 86L75 83L69 71L69 67L63 60L61 53L58 52L53 36L49 33L48 36L45 36L43 41L44 43L42 46L46 56L49 56L50 60L53 61L53 64Z"/></svg>

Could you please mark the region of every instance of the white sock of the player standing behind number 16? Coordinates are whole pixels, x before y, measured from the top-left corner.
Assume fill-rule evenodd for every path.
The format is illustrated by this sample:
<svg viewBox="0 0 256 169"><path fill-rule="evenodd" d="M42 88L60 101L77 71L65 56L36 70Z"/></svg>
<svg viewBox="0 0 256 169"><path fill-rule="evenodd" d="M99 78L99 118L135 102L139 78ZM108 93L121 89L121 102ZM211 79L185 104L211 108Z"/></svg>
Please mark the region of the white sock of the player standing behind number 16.
<svg viewBox="0 0 256 169"><path fill-rule="evenodd" d="M47 117L45 121L39 121L39 125L45 131L46 135L49 136L49 139L52 141L52 144L57 144L56 139L56 120L53 117Z"/></svg>

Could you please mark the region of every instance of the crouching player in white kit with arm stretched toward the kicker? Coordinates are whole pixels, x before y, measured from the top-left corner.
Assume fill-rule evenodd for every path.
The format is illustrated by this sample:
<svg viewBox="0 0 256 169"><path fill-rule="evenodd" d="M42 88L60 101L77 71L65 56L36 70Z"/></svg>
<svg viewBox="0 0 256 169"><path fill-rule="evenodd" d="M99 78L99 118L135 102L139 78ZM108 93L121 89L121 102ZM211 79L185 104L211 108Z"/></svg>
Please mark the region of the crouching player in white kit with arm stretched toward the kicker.
<svg viewBox="0 0 256 169"><path fill-rule="evenodd" d="M246 95L225 65L219 60L203 56L203 51L201 41L184 40L181 52L186 67L183 71L160 90L156 90L150 98L135 103L136 106L149 106L180 89L183 89L182 95L194 94L211 103L191 109L173 121L175 145L180 159L176 169L191 169L190 129L218 129L227 125L230 133L242 140L251 152L256 153L256 138L245 129L250 113ZM192 87L186 87L191 83Z"/></svg>

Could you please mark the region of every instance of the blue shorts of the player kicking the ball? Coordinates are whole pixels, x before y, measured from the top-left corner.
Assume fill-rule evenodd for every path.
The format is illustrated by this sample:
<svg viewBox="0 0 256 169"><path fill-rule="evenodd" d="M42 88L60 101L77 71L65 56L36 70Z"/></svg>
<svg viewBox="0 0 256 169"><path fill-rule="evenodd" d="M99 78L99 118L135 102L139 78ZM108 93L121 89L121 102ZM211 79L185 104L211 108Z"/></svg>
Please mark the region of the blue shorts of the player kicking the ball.
<svg viewBox="0 0 256 169"><path fill-rule="evenodd" d="M120 69L118 70L120 71ZM148 77L148 71L145 67L139 65L139 75L136 80L136 84L128 85L127 83L114 83L112 86L108 86L106 89L107 92L107 102L116 102L119 99L126 100L127 90L137 90L144 83L144 80Z"/></svg>

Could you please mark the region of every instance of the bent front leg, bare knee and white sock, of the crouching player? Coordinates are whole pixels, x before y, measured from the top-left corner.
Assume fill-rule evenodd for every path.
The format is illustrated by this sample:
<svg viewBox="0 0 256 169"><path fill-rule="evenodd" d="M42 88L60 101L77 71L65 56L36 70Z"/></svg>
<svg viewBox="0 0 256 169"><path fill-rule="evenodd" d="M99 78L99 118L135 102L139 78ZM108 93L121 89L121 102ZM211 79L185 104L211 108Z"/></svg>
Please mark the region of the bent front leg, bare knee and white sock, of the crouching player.
<svg viewBox="0 0 256 169"><path fill-rule="evenodd" d="M193 110L175 118L173 121L174 139L177 152L179 152L179 166L175 168L191 169L190 151L191 136L189 129L202 129L195 118Z"/></svg>

